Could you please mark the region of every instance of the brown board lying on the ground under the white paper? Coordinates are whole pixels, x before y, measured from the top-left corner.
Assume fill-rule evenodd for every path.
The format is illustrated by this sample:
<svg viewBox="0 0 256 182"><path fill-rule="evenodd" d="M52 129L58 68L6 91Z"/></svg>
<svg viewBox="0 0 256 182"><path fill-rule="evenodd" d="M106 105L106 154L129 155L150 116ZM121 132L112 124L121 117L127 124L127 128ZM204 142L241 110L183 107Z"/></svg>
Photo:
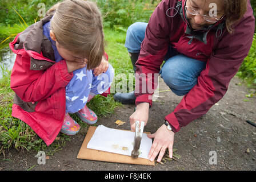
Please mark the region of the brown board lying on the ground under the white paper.
<svg viewBox="0 0 256 182"><path fill-rule="evenodd" d="M142 158L133 159L131 158L131 156L128 156L128 155L114 154L110 152L93 150L93 149L87 148L87 144L89 143L91 137L93 137L93 134L96 129L97 129L96 126L89 127L89 130L87 131L87 134L85 136L85 140L83 140L82 147L78 152L78 155L77 155L78 159L155 166L155 162L154 161L151 162L148 159L142 159ZM150 134L148 132L145 132L145 133Z"/></svg>

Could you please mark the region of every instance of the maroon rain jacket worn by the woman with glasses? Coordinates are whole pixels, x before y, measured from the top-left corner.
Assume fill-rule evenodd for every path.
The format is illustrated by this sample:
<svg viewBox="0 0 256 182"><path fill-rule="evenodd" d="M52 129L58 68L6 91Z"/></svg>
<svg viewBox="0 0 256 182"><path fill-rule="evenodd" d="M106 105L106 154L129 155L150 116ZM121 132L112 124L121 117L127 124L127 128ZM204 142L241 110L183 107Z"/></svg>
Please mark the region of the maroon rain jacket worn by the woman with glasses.
<svg viewBox="0 0 256 182"><path fill-rule="evenodd" d="M165 117L174 132L207 113L211 106L221 100L227 92L231 78L235 76L250 50L255 26L253 10L248 0L247 11L242 19L234 24L233 34L229 34L225 25L222 30L216 28L221 23L218 22L215 23L215 28L213 26L207 32L205 42L191 39L191 35L186 31L188 23L185 14L183 13L183 18L179 14L170 17L172 15L170 13L174 12L174 9L170 8L176 8L177 2L177 0L163 0L159 3L149 20L139 59L135 64L136 73L146 74L144 78L136 78L135 104L149 102L152 106L150 98L156 88L154 83L157 80L150 75L159 73L169 46L192 59L206 62L206 68L199 75L197 85L182 98L174 111ZM182 0L182 9L184 5L185 0ZM145 82L147 87L150 85L153 90L147 89L146 93L143 93L142 85Z"/></svg>

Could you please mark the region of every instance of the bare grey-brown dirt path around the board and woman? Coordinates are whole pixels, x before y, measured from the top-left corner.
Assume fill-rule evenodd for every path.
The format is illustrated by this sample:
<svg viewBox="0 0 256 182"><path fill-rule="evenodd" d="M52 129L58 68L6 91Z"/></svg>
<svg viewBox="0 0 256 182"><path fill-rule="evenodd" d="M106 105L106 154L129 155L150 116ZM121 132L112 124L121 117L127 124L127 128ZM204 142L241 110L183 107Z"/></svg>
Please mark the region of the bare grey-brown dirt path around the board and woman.
<svg viewBox="0 0 256 182"><path fill-rule="evenodd" d="M107 163L77 159L78 151L86 135L82 130L78 135L70 137L66 146L56 152L45 165L37 164L33 154L18 154L10 150L6 154L8 160L3 161L0 155L0 170L255 170L256 169L256 127L246 120L256 122L256 97L247 98L249 90L239 86L239 78L231 80L225 97L202 118L183 127L174 136L174 148L181 156L177 161L167 161L165 164L139 166L131 164ZM160 90L169 89L160 79ZM149 123L145 131L154 133L162 125L163 117L175 109L182 97L172 92L159 93L157 101L150 109ZM244 100L249 101L244 101ZM116 120L126 123L118 129L130 129L129 116L133 113L133 105L125 105L115 109L115 114L109 118L101 118L98 125L116 128ZM210 151L217 154L217 164L210 164Z"/></svg>

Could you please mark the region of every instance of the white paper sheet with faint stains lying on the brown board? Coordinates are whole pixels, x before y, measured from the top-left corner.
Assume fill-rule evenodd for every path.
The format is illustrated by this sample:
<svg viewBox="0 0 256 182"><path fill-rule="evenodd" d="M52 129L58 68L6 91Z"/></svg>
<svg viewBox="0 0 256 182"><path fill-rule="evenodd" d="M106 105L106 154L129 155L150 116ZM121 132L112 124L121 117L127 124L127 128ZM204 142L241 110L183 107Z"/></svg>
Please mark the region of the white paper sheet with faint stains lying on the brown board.
<svg viewBox="0 0 256 182"><path fill-rule="evenodd" d="M95 130L93 137L87 144L87 148L112 152L115 154L131 155L134 144L134 132L110 129L106 126L99 125ZM139 158L149 159L149 151L152 145L152 139L143 133L141 139L141 154Z"/></svg>

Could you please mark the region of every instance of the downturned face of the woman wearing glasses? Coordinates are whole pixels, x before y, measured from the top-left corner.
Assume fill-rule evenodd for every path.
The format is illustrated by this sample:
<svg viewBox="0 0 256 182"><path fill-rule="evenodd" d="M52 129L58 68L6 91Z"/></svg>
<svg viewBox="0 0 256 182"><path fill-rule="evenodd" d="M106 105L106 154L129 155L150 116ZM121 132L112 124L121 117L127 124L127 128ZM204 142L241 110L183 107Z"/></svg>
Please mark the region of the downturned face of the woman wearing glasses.
<svg viewBox="0 0 256 182"><path fill-rule="evenodd" d="M223 5L221 0L187 0L186 5L190 7L190 9L196 10L201 15L210 16L210 12L213 12L213 6L210 6L210 3L215 3L215 7L217 8L217 16L213 16L215 18L221 19L223 16ZM192 15L186 11L187 19L189 20L190 26L195 30L200 30L203 27L214 24L213 22L207 22L203 16L201 15Z"/></svg>

